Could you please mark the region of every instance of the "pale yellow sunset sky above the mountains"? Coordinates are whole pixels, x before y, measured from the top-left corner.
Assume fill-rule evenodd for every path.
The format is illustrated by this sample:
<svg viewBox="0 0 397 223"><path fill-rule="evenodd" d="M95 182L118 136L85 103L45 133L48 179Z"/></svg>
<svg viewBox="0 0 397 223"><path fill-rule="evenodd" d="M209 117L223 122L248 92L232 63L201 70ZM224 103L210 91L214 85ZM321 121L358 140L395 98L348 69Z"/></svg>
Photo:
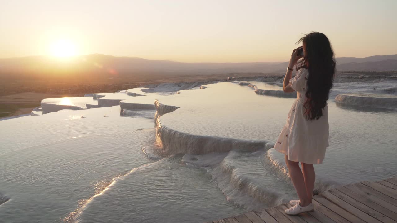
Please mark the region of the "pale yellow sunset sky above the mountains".
<svg viewBox="0 0 397 223"><path fill-rule="evenodd" d="M397 0L0 0L0 58L78 54L179 62L288 61L304 33L337 57L397 54Z"/></svg>

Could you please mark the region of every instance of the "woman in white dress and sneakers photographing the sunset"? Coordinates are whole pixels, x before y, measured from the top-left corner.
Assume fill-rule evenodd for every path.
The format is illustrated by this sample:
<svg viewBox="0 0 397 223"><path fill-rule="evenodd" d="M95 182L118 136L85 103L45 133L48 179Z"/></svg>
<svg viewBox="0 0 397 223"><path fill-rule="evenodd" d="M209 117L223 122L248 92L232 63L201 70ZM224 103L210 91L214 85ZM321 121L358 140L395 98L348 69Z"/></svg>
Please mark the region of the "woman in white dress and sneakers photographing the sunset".
<svg viewBox="0 0 397 223"><path fill-rule="evenodd" d="M297 100L274 146L285 154L289 176L299 196L299 200L289 202L293 207L285 210L290 215L314 210L313 164L322 163L328 147L327 100L336 64L326 35L312 32L298 42L303 42L303 54L299 48L293 50L283 83L284 92L297 92ZM298 63L300 58L303 59ZM291 79L295 65L297 74Z"/></svg>

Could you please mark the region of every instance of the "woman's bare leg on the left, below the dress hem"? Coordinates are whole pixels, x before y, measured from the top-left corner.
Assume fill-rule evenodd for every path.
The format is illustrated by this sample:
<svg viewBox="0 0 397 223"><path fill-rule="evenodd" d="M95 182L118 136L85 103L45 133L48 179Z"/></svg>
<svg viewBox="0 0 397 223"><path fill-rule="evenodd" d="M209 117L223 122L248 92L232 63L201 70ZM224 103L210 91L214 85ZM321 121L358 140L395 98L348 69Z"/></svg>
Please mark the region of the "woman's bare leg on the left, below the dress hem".
<svg viewBox="0 0 397 223"><path fill-rule="evenodd" d="M301 206L308 206L312 201L307 198L306 185L304 184L304 178L301 167L299 167L299 162L288 160L288 157L285 156L285 163L287 163L289 177L298 193Z"/></svg>

